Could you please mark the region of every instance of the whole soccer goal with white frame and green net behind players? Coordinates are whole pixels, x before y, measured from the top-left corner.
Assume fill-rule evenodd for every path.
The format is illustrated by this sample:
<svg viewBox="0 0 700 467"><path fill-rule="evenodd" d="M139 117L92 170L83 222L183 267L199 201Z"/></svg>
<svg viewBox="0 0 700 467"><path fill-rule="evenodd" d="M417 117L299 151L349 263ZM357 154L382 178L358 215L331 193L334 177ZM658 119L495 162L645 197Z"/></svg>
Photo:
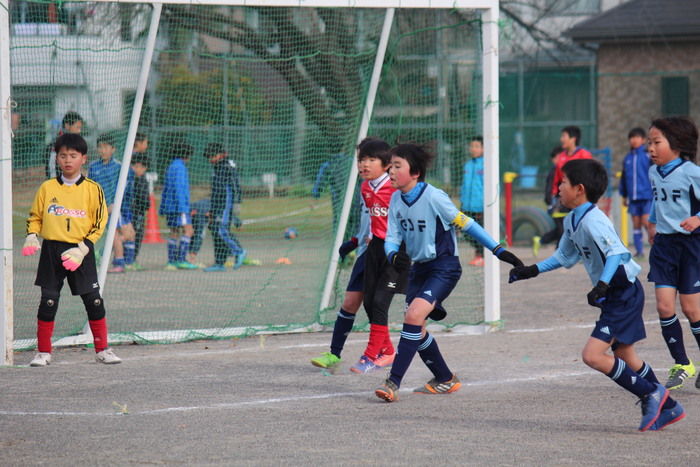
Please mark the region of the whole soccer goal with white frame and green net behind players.
<svg viewBox="0 0 700 467"><path fill-rule="evenodd" d="M498 33L497 0L3 2L6 364L13 350L36 345L38 257L20 250L61 132L87 140L86 174L90 164L121 164L105 188L112 215L96 246L114 343L332 325L352 261L339 263L338 246L358 224L354 148L367 135L433 145L429 180L457 203L470 138L483 135L484 223L499 238ZM235 165L239 189L226 199L212 199L212 143ZM169 260L180 238L158 209L169 165L187 154L194 236L182 265ZM143 176L129 173L136 161L148 165ZM132 190L137 181L140 190ZM134 211L138 196L143 234L134 245L116 218L127 206ZM222 203L236 205L223 246L209 228L212 207ZM115 239L123 240L125 272L114 266ZM459 247L471 259L469 244ZM222 251L224 267L205 270ZM443 327L483 331L499 322L499 266L486 260L478 269L464 261ZM402 302L392 307L396 326ZM55 345L91 342L85 318L79 297L64 288ZM366 319L356 326L367 327Z"/></svg>

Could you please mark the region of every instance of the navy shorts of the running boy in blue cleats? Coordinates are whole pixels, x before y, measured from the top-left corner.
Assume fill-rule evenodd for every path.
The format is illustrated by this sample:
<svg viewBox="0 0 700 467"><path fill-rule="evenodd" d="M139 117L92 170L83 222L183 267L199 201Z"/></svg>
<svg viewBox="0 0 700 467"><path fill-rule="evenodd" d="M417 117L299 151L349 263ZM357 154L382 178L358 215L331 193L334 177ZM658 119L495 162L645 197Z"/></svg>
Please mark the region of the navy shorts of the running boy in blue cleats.
<svg viewBox="0 0 700 467"><path fill-rule="evenodd" d="M605 295L603 311L600 313L591 337L603 342L632 345L644 339L644 289L639 279L629 287L611 287Z"/></svg>

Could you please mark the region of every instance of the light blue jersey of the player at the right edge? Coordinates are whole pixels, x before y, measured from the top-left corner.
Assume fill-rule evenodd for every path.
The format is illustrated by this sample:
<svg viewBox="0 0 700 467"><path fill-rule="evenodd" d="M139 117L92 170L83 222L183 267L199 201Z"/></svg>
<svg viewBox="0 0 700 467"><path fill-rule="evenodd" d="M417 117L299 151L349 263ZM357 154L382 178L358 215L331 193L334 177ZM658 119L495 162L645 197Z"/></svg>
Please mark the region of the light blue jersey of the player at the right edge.
<svg viewBox="0 0 700 467"><path fill-rule="evenodd" d="M654 191L649 222L656 224L656 232L660 234L690 235L693 232L683 229L681 222L700 212L700 167L687 160L680 163L677 160L649 169Z"/></svg>

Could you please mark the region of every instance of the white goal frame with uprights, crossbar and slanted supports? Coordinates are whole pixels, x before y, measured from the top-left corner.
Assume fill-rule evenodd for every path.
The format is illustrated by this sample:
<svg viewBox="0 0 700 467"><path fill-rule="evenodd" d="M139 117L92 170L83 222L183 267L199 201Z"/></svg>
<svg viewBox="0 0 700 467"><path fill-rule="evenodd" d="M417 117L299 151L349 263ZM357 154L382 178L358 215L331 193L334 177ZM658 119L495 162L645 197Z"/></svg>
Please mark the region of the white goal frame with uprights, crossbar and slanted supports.
<svg viewBox="0 0 700 467"><path fill-rule="evenodd" d="M12 126L11 109L13 100L10 91L10 18L9 3L13 0L0 0L0 250L2 251L2 274L0 274L0 351L5 365L13 363L13 242L12 242ZM107 2L107 0L97 0ZM157 11L163 3L145 1L112 0L109 3L144 3L154 5ZM190 0L169 0L168 4L191 5ZM344 9L386 9L387 13L382 34L383 44L380 44L372 82L368 91L368 99L365 111L362 115L357 141L361 141L367 134L372 116L372 105L376 94L381 66L386 50L386 39L391 29L394 9L420 8L420 9L470 9L480 10L482 17L482 112L484 136L484 152L488 157L484 159L484 228L493 238L500 238L499 215L499 90L498 90L498 35L499 35L499 7L498 0L198 0L197 5L226 5L226 6L259 6L259 7L287 7L287 8L344 8ZM158 28L158 16L151 23L150 34L155 35ZM151 50L152 52L152 50ZM138 115L143 104L143 86L148 79L150 69L150 55L147 53L142 64L142 73L139 79L134 102L132 123L129 126L127 145L130 148L134 141ZM120 198L126 183L126 170L129 166L131 152L124 153L124 165L119 178L117 197ZM345 200L338 223L337 234L328 266L326 283L321 299L321 308L328 305L331 294L333 278L338 267L338 247L342 242L342 236L348 223L352 196L355 191L357 179L357 167L352 164L348 186L345 191ZM119 201L119 200L116 200ZM115 203L118 205L118 203ZM115 216L116 217L116 216ZM107 232L107 251L111 249L111 241L114 237L115 225L110 225ZM485 256L484 270L484 321L492 323L500 320L500 286L499 286L499 262L493 255ZM107 264L103 262L100 267L100 285L104 287Z"/></svg>

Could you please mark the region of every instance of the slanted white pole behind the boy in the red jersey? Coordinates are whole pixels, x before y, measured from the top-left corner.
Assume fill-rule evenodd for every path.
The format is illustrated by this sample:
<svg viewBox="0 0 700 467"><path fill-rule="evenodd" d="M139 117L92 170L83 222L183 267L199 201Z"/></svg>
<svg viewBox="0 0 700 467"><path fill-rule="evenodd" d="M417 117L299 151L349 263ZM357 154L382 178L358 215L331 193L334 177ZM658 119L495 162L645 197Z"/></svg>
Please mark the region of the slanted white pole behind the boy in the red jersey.
<svg viewBox="0 0 700 467"><path fill-rule="evenodd" d="M367 131L369 130L369 120L372 117L372 110L374 109L374 99L377 96L377 88L379 87L379 78L382 74L382 66L384 64L384 55L386 54L387 44L389 43L389 34L391 33L391 25L394 21L394 9L387 8L386 15L384 16L384 25L382 26L382 34L379 38L379 45L377 47L377 56L374 58L374 68L372 70L372 78L369 82L369 89L367 91L367 102L365 103L365 109L362 112L362 121L360 122L360 130L358 132L357 142L359 143L367 136ZM331 261L328 265L328 274L326 274L326 283L323 287L323 295L321 296L321 311L328 308L328 304L331 299L331 291L333 290L333 283L335 282L335 273L338 270L338 259L340 255L338 254L338 248L340 248L343 242L343 234L348 225L348 217L350 215L350 207L352 205L353 197L355 196L355 184L357 182L357 164L353 163L350 166L350 177L348 179L348 186L345 189L345 201L343 203L343 209L340 212L340 219L338 221L338 230L335 234L335 241L333 242L333 250L331 251Z"/></svg>

